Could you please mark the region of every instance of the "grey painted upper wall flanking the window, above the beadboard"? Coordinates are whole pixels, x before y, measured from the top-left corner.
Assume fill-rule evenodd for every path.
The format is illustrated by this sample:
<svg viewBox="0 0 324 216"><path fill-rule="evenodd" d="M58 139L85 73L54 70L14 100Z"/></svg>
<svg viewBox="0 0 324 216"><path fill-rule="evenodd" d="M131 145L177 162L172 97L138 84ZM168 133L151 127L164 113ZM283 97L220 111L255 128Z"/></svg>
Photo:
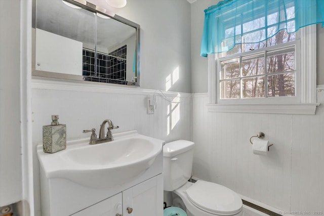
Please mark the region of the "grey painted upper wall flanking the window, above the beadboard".
<svg viewBox="0 0 324 216"><path fill-rule="evenodd" d="M207 58L200 56L204 28L204 10L218 0L201 0L191 4L191 89L192 93L208 92ZM324 84L324 28L317 25L317 84Z"/></svg>

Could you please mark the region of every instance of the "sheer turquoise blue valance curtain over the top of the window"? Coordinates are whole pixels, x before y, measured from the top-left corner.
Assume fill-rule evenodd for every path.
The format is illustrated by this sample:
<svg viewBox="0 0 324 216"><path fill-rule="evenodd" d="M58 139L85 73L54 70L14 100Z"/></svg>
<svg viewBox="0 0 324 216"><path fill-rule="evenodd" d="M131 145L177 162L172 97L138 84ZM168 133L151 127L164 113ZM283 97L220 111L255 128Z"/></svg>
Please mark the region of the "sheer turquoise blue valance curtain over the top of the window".
<svg viewBox="0 0 324 216"><path fill-rule="evenodd" d="M321 23L324 0L225 0L205 10L200 55L229 51L237 44L266 40Z"/></svg>

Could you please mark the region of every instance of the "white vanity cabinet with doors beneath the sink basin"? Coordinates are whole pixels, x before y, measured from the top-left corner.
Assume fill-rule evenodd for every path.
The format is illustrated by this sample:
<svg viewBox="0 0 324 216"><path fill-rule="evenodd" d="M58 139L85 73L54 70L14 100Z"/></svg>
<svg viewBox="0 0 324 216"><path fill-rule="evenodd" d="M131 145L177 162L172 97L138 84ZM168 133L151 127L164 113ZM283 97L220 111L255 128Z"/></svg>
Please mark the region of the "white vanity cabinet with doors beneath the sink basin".
<svg viewBox="0 0 324 216"><path fill-rule="evenodd" d="M114 142L117 140L116 136ZM73 147L70 145L69 148ZM43 155L42 146L38 146L37 150ZM63 154L64 151L61 153ZM59 153L55 154L59 155ZM45 156L53 157L55 154ZM44 158L41 157L41 160ZM107 184L104 187L95 184L90 186L80 184L65 178L48 178L42 163L40 165L42 216L163 215L163 153L161 149L152 164L137 177L126 180L120 178L119 183ZM91 175L85 177L91 178ZM133 210L127 210L128 207Z"/></svg>

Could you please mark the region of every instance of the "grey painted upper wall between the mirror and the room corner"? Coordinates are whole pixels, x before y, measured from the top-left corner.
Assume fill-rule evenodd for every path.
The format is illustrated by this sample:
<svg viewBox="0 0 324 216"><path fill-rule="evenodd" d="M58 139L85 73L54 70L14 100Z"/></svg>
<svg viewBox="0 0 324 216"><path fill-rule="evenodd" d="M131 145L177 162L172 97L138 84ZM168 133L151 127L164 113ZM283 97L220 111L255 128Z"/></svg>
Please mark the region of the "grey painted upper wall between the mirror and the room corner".
<svg viewBox="0 0 324 216"><path fill-rule="evenodd" d="M166 90L166 79L179 68L169 89L191 92L190 4L185 1L127 1L116 11L141 26L141 88Z"/></svg>

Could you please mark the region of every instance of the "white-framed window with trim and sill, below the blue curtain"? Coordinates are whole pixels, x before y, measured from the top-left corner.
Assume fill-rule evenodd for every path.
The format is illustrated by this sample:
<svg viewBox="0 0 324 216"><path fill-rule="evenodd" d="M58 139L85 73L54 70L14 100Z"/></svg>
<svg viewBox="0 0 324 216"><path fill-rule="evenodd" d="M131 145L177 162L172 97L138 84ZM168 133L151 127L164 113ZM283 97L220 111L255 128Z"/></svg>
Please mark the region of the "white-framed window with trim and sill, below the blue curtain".
<svg viewBox="0 0 324 216"><path fill-rule="evenodd" d="M210 112L315 113L316 26L281 33L281 44L275 35L263 45L208 55Z"/></svg>

